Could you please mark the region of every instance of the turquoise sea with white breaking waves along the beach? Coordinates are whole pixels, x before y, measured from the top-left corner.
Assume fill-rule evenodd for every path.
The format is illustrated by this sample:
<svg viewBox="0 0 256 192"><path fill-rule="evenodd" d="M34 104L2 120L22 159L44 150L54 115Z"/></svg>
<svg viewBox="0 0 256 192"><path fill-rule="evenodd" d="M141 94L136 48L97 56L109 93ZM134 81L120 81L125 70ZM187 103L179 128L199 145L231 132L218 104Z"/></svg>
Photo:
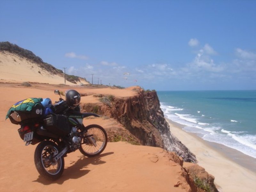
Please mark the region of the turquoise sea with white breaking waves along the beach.
<svg viewBox="0 0 256 192"><path fill-rule="evenodd" d="M256 90L158 91L164 115L204 140L256 158Z"/></svg>

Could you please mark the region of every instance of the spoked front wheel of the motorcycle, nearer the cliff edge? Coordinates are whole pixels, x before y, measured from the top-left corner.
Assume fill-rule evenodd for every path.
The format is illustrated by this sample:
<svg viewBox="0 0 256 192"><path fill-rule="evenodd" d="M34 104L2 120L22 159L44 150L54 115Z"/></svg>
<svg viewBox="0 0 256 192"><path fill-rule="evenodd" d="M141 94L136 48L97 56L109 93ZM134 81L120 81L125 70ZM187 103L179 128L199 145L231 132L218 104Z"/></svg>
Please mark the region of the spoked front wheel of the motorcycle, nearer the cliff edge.
<svg viewBox="0 0 256 192"><path fill-rule="evenodd" d="M92 124L85 127L84 139L79 151L88 157L100 155L107 146L108 136L100 125Z"/></svg>

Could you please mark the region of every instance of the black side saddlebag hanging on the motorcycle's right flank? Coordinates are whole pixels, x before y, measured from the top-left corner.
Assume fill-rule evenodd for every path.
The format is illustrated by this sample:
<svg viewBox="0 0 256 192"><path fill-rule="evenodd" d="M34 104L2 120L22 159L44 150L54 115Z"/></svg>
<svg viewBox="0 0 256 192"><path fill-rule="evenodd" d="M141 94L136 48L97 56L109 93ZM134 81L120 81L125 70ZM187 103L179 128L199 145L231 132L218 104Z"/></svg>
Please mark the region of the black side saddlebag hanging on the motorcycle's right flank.
<svg viewBox="0 0 256 192"><path fill-rule="evenodd" d="M44 118L45 128L56 135L65 136L70 133L68 117L64 115L48 114Z"/></svg>

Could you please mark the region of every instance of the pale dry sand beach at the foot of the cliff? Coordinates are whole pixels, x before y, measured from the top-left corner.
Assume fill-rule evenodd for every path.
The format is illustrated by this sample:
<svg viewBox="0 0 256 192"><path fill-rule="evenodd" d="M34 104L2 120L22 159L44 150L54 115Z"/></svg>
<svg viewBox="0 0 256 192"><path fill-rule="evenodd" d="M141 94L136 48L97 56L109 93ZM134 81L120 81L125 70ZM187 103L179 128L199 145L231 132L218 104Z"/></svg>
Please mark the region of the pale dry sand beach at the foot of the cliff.
<svg viewBox="0 0 256 192"><path fill-rule="evenodd" d="M182 130L182 125L168 120L170 125L170 131L176 136L188 149L196 155L198 165L204 167L204 169L215 177L215 183L221 187L220 191L255 191L256 188L256 172L249 170L249 168L255 168L255 162L250 162L245 166L241 166L232 161L227 156L224 156L217 150L216 144L207 142L195 134L185 132ZM218 145L220 147L220 145ZM232 149L227 149L232 152ZM242 163L240 154L240 162Z"/></svg>

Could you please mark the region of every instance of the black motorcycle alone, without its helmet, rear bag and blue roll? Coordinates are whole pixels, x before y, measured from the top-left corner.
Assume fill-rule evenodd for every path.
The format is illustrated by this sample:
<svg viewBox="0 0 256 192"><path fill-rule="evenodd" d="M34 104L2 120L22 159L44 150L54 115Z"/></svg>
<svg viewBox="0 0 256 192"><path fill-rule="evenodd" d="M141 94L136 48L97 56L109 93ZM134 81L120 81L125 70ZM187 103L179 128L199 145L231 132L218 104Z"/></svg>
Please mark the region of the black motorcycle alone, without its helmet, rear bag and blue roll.
<svg viewBox="0 0 256 192"><path fill-rule="evenodd" d="M103 127L97 124L84 126L88 116L94 113L80 113L79 106L69 107L61 98L49 108L50 113L43 119L30 120L21 124L18 132L26 145L35 145L36 169L47 180L57 180L64 171L64 157L77 149L87 157L97 156L107 146L108 137Z"/></svg>

